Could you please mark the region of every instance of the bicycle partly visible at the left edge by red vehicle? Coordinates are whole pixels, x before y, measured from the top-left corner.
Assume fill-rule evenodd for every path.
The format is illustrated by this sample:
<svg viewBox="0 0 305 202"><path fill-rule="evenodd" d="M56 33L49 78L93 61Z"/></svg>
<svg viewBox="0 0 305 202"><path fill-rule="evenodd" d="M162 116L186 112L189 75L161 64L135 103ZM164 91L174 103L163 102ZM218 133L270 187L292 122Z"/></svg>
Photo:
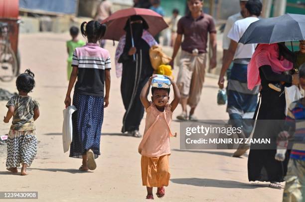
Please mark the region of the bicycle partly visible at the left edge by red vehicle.
<svg viewBox="0 0 305 202"><path fill-rule="evenodd" d="M17 22L20 23L20 22ZM9 41L9 25L0 22L0 80L11 81L18 73L18 62Z"/></svg>

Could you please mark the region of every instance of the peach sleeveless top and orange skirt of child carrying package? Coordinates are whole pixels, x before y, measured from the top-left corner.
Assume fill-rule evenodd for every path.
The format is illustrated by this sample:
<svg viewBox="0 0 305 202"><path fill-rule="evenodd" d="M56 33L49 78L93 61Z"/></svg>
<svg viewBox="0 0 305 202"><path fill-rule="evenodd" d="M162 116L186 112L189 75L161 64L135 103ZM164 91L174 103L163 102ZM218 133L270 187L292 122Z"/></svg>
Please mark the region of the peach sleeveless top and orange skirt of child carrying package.
<svg viewBox="0 0 305 202"><path fill-rule="evenodd" d="M160 112L151 102L146 110L146 123L143 139L139 145L142 150L142 183L147 187L167 186L170 178L168 156L172 112L167 104Z"/></svg>

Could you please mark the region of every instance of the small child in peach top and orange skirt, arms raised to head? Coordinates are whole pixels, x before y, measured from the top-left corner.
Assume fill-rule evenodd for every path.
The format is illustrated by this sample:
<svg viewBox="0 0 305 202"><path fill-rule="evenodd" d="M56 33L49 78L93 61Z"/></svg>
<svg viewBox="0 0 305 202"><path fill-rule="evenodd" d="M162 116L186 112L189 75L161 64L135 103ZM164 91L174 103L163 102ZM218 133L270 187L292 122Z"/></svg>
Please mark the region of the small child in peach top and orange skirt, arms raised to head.
<svg viewBox="0 0 305 202"><path fill-rule="evenodd" d="M172 112L179 103L180 93L177 85L170 79L174 91L174 99L170 104L170 88L152 87L152 101L147 99L152 78L145 84L141 92L141 101L147 112L145 132L139 145L141 157L142 184L147 187L146 199L153 199L152 188L157 187L156 196L165 195L164 186L168 186L170 173L168 158L170 155L169 137Z"/></svg>

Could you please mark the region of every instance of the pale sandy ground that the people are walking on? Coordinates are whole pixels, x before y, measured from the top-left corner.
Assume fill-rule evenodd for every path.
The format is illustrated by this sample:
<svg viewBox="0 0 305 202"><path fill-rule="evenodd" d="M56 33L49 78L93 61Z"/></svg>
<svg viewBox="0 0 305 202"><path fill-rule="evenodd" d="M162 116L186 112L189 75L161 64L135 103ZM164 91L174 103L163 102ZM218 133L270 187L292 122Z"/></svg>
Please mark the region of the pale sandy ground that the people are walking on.
<svg viewBox="0 0 305 202"><path fill-rule="evenodd" d="M140 138L120 134L124 107L120 95L120 79L113 65L110 106L105 109L101 153L94 172L78 171L80 159L68 157L62 149L62 110L68 82L66 80L66 48L68 34L38 33L21 35L21 70L35 73L36 87L30 95L40 103L36 122L38 153L28 176L11 175L5 170L6 152L0 153L0 191L37 191L41 202L145 201L142 186L138 144ZM115 48L106 48L114 58ZM174 71L177 73L177 70ZM14 81L0 87L15 91ZM217 106L217 80L206 78L196 115L200 119L228 119L225 106ZM0 101L0 114L6 113ZM180 107L174 117L181 112ZM2 120L2 119L1 119ZM172 122L179 131L179 122ZM0 122L0 135L7 134L8 124ZM144 121L140 131L144 131ZM3 146L0 146L3 148ZM171 180L162 201L170 202L280 202L281 190L268 188L268 183L249 183L247 155L231 157L232 150L179 150L179 138L171 138ZM154 191L155 192L155 191ZM155 200L159 200L155 197ZM1 200L2 201L2 200ZM9 200L12 202L14 200ZM16 200L17 201L17 200ZM20 201L20 200L19 200Z"/></svg>

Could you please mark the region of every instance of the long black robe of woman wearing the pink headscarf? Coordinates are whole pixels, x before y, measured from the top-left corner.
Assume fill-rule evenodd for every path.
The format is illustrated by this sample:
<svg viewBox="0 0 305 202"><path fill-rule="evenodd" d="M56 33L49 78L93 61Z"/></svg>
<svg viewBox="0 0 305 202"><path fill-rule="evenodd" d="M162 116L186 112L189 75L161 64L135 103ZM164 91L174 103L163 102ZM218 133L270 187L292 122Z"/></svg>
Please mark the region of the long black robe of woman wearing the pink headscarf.
<svg viewBox="0 0 305 202"><path fill-rule="evenodd" d="M268 84L273 82L285 81L286 84L292 83L291 75L278 74L272 71L270 66L259 68L261 77L261 105L258 110L257 120L284 120L286 99L283 93L271 89ZM281 132L283 122L257 122L253 138L276 138ZM266 136L268 135L268 136ZM275 160L276 145L273 149L254 149L251 147L248 157L248 178L249 181L283 182L287 172L289 152L286 153L285 161Z"/></svg>

